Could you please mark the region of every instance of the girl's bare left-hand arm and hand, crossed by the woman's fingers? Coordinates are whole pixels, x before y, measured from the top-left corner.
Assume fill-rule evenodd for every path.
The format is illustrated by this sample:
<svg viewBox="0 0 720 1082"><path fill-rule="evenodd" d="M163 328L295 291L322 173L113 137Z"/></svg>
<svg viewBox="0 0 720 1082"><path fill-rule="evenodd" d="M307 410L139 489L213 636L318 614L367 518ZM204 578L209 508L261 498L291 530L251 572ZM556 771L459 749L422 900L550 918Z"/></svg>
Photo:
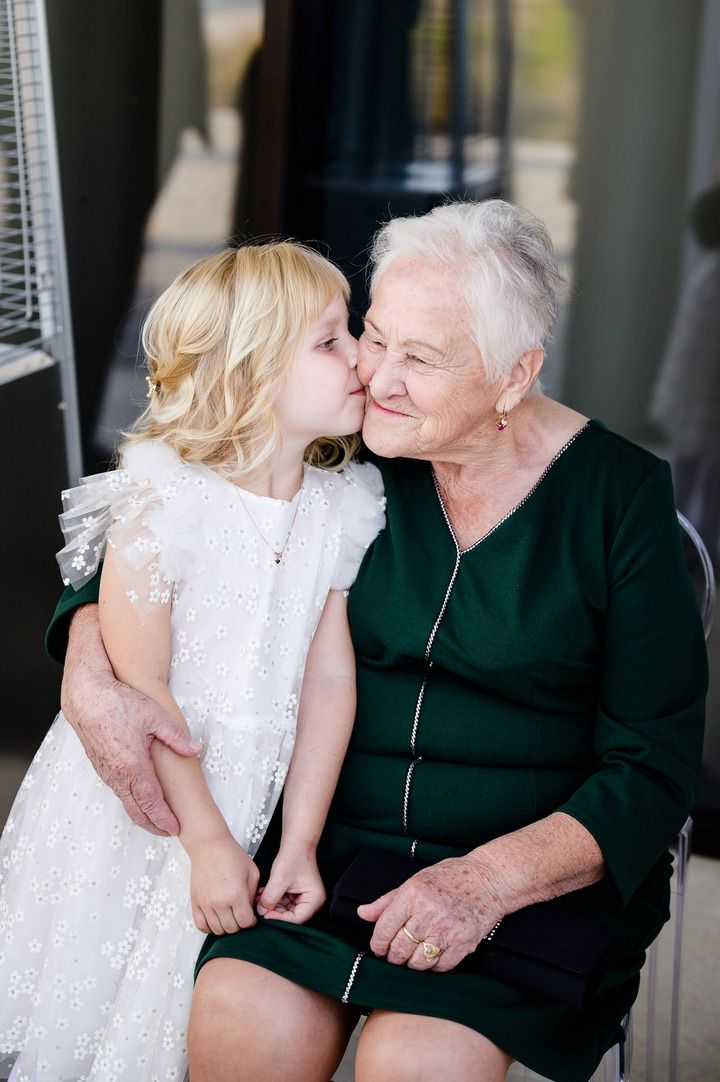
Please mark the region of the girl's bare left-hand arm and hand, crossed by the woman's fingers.
<svg viewBox="0 0 720 1082"><path fill-rule="evenodd" d="M142 691L185 728L168 689L170 605L157 605L141 623L128 599L110 547L100 584L100 629L116 677ZM258 869L235 841L212 800L200 765L158 740L150 755L165 797L180 823L180 841L191 858L193 918L200 932L237 932L254 924Z"/></svg>

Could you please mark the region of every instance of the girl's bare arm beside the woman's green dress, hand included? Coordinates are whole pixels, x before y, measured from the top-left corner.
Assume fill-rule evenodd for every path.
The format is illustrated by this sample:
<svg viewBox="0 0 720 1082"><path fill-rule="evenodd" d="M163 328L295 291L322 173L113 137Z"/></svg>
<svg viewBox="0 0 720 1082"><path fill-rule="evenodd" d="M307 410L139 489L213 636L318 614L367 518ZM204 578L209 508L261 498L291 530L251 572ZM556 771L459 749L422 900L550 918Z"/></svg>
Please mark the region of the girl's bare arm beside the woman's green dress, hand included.
<svg viewBox="0 0 720 1082"><path fill-rule="evenodd" d="M331 590L307 652L298 733L283 796L283 839L258 912L301 924L325 901L315 850L355 718L348 603Z"/></svg>

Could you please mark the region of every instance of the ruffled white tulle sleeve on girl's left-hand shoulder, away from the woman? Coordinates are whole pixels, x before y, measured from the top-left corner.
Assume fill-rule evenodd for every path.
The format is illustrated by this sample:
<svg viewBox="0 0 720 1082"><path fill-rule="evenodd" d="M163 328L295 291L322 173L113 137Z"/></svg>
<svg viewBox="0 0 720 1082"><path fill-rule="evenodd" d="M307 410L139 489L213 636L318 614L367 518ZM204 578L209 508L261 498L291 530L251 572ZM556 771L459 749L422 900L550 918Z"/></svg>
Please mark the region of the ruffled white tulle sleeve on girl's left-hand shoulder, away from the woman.
<svg viewBox="0 0 720 1082"><path fill-rule="evenodd" d="M201 469L154 440L130 447L122 470L82 478L63 492L66 543L57 563L65 585L79 590L109 544L141 621L153 606L169 604L172 584L201 559L198 501L206 489Z"/></svg>

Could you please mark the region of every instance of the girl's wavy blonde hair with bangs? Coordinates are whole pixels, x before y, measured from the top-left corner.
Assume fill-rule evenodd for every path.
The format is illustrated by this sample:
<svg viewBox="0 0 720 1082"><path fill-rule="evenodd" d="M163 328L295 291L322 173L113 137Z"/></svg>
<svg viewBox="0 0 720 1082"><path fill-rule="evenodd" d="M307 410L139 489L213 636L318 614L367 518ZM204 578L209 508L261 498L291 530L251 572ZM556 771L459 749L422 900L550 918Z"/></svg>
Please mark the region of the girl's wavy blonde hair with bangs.
<svg viewBox="0 0 720 1082"><path fill-rule="evenodd" d="M159 439L234 480L271 465L282 443L273 403L338 294L350 298L343 274L296 241L226 249L188 267L145 320L154 390L120 453ZM305 461L340 470L358 446L357 435L316 439Z"/></svg>

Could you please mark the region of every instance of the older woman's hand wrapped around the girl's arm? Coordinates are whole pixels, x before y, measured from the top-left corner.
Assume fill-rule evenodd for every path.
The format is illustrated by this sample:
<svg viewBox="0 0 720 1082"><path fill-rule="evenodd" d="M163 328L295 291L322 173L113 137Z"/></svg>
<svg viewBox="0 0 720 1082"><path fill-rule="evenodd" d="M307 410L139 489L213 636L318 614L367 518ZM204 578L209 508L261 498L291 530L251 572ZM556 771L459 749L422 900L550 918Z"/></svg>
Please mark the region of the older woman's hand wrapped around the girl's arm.
<svg viewBox="0 0 720 1082"><path fill-rule="evenodd" d="M63 713L103 781L122 801L134 823L152 834L176 834L149 756L154 739L180 755L201 745L157 703L115 678L103 646L97 606L75 613L63 675Z"/></svg>

